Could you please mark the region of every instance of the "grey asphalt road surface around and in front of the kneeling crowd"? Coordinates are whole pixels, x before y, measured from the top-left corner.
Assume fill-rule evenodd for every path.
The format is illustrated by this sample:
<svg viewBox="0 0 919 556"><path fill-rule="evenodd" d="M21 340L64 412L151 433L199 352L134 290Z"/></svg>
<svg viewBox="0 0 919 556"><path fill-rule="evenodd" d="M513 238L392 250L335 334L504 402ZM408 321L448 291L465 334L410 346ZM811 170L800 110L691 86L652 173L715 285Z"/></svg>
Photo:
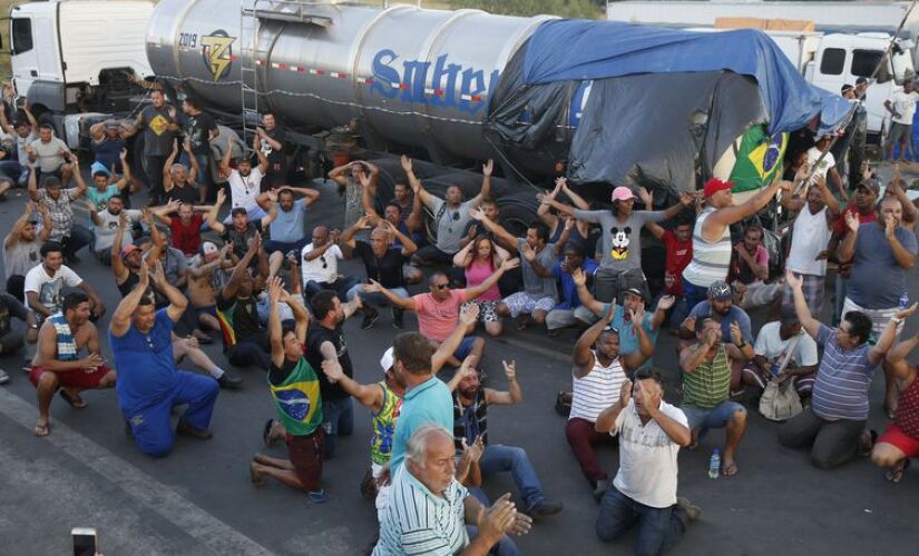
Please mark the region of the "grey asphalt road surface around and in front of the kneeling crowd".
<svg viewBox="0 0 919 556"><path fill-rule="evenodd" d="M339 225L342 200L331 183L317 187L323 197L310 224ZM21 196L0 203L0 235L19 217L23 202ZM108 269L89 256L75 269L100 291L110 314L119 297ZM353 262L344 269L362 274ZM919 299L915 279L910 296ZM917 321L908 324L908 332L916 330ZM408 329L414 322L407 317ZM754 330L761 324L762 315L754 315ZM106 317L100 331L107 325ZM380 355L395 332L389 315L384 312L370 331L360 330L358 319L345 330L355 378L379 380ZM500 361L515 359L525 397L519 406L491 409L491 441L526 448L547 494L565 504L564 513L537 523L519 546L526 554L632 554L634 535L604 545L594 534L597 505L565 440L565 419L553 410L556 393L570 387L574 340L574 334L548 340L540 331L515 330L489 340L486 349L489 385L504 388ZM218 347L207 351L225 364ZM659 338L655 361L671 380L668 399L678 400L674 340L666 334ZM153 459L125 437L114 390L86 393L89 407L81 410L55 399L51 436L35 437L35 389L20 365L21 355L0 356L0 367L11 376L0 387L0 554L68 554L75 526L96 527L107 556L352 555L374 535L373 504L361 499L359 492L370 464L370 414L364 408L355 408L353 436L342 439L339 456L325 464L329 502L311 505L302 494L271 479L261 489L248 483L248 463L256 451L266 451L261 431L273 415L261 371L234 369L246 383L242 390L221 393L213 439L179 438L172 455ZM886 426L881 391L878 378L871 395L871 427L878 430ZM723 439L723 431L713 431L697 450L680 454L680 493L703 513L674 554L916 554L919 473L911 469L901 484L892 485L868 459L818 470L806 453L782 448L776 425L753 410L737 453L740 474L712 480L706 464ZM284 457L283 448L267 453ZM612 477L616 453L600 449L600 457ZM486 490L516 496L509 476L489 479Z"/></svg>

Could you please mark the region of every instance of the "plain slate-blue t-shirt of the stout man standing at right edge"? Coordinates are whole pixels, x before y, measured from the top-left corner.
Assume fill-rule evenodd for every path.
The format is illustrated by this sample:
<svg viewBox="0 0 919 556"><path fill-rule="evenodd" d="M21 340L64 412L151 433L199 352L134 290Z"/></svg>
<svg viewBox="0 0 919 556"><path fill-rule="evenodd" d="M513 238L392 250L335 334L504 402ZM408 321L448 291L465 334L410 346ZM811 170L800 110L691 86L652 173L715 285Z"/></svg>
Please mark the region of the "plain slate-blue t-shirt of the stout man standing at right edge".
<svg viewBox="0 0 919 556"><path fill-rule="evenodd" d="M919 251L915 232L897 228L894 235L907 251L912 255ZM878 222L859 226L847 292L849 298L866 309L890 309L899 305L900 296L906 291L906 279L907 270L893 258L883 228Z"/></svg>

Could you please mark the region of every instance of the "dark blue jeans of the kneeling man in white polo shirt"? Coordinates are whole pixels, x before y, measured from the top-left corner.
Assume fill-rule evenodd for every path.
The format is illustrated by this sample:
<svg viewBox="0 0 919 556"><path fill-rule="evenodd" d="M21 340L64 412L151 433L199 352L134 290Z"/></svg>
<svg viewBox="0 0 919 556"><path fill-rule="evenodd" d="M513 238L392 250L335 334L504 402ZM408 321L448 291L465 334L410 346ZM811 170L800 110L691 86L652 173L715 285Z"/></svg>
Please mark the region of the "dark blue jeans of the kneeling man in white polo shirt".
<svg viewBox="0 0 919 556"><path fill-rule="evenodd" d="M637 522L638 538L635 554L654 556L675 545L686 532L686 520L682 514L682 510L674 510L673 506L645 506L610 486L600 500L600 513L596 523L597 536L607 543L615 540Z"/></svg>

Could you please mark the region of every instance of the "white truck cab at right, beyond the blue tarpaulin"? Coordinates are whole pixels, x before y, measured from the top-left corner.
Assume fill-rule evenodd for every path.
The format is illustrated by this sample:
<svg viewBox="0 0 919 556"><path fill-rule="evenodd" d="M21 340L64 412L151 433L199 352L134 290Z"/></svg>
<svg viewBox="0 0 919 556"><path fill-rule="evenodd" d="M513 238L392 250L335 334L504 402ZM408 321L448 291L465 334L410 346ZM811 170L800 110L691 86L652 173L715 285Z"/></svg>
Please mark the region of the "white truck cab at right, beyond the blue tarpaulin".
<svg viewBox="0 0 919 556"><path fill-rule="evenodd" d="M889 43L887 33L827 34L821 39L813 61L804 69L804 77L817 87L838 95L843 85L856 85L860 77L870 78ZM881 66L877 82L868 88L864 108L869 135L890 128L884 100L905 79L916 77L910 48L909 43L894 48Z"/></svg>

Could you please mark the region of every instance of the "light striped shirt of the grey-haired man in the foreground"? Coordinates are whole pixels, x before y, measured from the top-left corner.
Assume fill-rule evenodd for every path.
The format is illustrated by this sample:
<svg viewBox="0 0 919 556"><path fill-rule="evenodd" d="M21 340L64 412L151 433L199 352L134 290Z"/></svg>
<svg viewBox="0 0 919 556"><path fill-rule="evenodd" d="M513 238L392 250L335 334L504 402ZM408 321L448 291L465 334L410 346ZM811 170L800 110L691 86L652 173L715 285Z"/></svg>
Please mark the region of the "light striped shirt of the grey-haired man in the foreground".
<svg viewBox="0 0 919 556"><path fill-rule="evenodd" d="M405 466L397 469L380 522L373 556L449 556L469 544L463 517L468 490L456 479L443 497L431 493Z"/></svg>

